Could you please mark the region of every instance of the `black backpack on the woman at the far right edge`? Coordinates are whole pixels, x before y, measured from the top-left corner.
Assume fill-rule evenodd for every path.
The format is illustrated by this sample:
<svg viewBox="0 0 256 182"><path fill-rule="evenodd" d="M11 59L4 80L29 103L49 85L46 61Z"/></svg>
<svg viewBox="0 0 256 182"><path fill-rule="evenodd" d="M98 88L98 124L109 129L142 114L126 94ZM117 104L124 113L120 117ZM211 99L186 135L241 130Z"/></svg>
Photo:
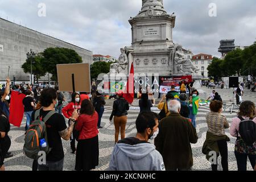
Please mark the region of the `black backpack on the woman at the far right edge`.
<svg viewBox="0 0 256 182"><path fill-rule="evenodd" d="M245 141L247 146L253 146L256 142L256 123L254 123L251 119L245 120L242 117L238 117L241 119L239 125L239 134L243 141ZM238 137L238 133L237 133Z"/></svg>

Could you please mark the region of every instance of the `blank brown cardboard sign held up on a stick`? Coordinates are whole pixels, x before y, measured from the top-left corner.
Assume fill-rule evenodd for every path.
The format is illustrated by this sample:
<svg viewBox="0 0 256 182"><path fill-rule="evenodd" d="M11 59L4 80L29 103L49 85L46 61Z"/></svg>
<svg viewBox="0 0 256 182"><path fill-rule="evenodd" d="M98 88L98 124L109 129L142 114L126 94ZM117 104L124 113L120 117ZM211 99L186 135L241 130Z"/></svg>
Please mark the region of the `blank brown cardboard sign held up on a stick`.
<svg viewBox="0 0 256 182"><path fill-rule="evenodd" d="M58 64L59 90L61 92L73 92L72 74L75 78L75 91L90 92L90 65L88 63Z"/></svg>

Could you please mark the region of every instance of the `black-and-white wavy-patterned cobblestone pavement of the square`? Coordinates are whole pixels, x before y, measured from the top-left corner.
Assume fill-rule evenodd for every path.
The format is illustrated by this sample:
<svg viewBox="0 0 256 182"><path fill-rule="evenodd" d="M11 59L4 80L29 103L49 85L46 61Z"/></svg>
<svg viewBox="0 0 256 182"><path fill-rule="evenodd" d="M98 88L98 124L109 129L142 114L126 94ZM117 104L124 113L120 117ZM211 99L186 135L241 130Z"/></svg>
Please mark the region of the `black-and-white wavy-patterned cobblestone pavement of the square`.
<svg viewBox="0 0 256 182"><path fill-rule="evenodd" d="M206 94L201 94L201 98L207 98L209 93L212 90L203 87L203 90ZM215 89L224 100L226 107L232 104L233 98L233 89ZM245 90L245 95L243 96L243 100L250 100L256 102L256 93L250 92L249 90ZM134 109L134 110L133 110ZM136 134L136 127L135 127L135 119L138 116L139 111L133 108L129 111L128 121L126 126L126 137L134 137ZM207 133L207 124L205 123L205 114L209 111L209 106L201 106L199 109L199 114L197 115L197 134L199 135L199 140L196 144L192 144L192 151L193 151L193 158L194 158L194 166L193 170L200 170L200 171L209 171L210 164L205 159L205 155L202 154L201 148L203 146L206 133ZM238 111L238 110L234 110ZM109 123L109 117L112 112L112 102L108 101L107 106L105 107L105 113L102 118L102 126L103 129L100 130L99 134L99 147L100 147L100 166L96 168L97 171L104 171L107 170L109 167L109 159L110 155L112 154L112 150L114 147L114 125ZM156 111L159 112L159 111ZM230 114L229 110L223 113L227 118L228 121L231 122L232 118L236 116L236 113ZM24 125L25 122L23 121L22 126L18 127L11 127L11 131L9 133L11 138L11 148L10 151L13 152L13 158L9 158L5 160L6 169L11 171L31 171L32 167L32 160L26 158L23 155L23 141L24 141ZM229 149L229 169L232 171L237 170L236 165L236 158L234 156L234 142L235 138L231 137L229 134L229 130L226 130L226 134L230 137L231 142L228 143ZM72 171L75 168L75 155L71 154L70 144L67 141L63 140L63 147L65 152L65 160L64 160L64 170L65 171ZM220 158L218 159L218 169L221 170L220 165ZM252 170L250 163L248 162L247 165L248 170Z"/></svg>

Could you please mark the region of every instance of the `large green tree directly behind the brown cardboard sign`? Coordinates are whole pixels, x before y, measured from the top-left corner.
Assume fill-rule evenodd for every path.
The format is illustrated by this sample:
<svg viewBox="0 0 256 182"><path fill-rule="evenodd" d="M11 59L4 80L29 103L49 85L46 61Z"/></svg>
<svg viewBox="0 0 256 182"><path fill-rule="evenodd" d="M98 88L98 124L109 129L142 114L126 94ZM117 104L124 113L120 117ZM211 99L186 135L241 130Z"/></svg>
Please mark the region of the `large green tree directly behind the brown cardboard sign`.
<svg viewBox="0 0 256 182"><path fill-rule="evenodd" d="M82 57L73 49L47 48L42 53L42 65L45 72L52 74L52 80L57 81L57 64L82 63Z"/></svg>

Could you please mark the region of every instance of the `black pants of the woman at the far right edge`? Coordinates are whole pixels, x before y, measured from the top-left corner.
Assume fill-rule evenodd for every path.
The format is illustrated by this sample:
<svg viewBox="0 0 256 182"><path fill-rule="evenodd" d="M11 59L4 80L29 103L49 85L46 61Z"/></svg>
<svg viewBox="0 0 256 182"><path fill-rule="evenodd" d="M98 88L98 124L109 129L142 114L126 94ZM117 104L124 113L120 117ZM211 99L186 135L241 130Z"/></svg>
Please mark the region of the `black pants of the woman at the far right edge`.
<svg viewBox="0 0 256 182"><path fill-rule="evenodd" d="M247 158L249 158L251 167L255 167L256 155L247 155L241 154L235 151L236 159L237 159L237 168L238 171L246 171L247 170Z"/></svg>

